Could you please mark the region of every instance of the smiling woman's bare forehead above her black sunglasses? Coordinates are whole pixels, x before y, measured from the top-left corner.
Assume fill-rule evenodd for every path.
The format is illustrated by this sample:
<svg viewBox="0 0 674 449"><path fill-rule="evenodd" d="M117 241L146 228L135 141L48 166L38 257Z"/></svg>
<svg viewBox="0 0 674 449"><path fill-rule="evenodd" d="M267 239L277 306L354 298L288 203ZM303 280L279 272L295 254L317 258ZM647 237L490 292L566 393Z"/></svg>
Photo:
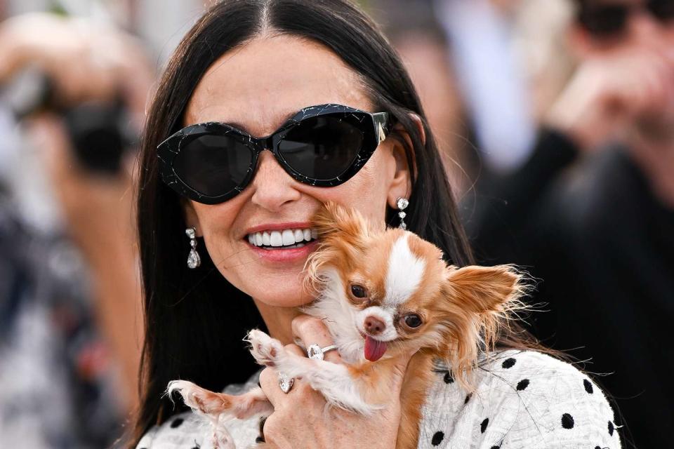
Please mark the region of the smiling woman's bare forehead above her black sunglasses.
<svg viewBox="0 0 674 449"><path fill-rule="evenodd" d="M370 110L357 73L335 53L286 34L258 37L209 67L190 98L185 123L235 123L268 135L304 107L338 103Z"/></svg>

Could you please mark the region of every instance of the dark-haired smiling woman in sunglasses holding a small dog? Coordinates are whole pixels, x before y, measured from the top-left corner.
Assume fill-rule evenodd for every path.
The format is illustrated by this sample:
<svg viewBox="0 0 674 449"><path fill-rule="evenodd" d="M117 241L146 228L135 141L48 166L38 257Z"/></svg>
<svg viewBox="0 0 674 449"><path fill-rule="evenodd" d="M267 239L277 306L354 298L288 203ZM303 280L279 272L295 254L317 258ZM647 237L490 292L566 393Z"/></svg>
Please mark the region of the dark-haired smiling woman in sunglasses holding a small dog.
<svg viewBox="0 0 674 449"><path fill-rule="evenodd" d="M341 106L311 108L326 104ZM350 116L343 111L357 109L353 114L365 125L348 119L350 126L341 128L315 119L331 108L343 117ZM381 112L388 116L369 114ZM288 146L230 139L272 135L290 118L306 120L289 131L296 140ZM221 124L192 126L204 122L228 123L239 132ZM341 159L337 149L353 150L345 143L324 154L303 153L298 145L303 139L322 142L319 149L350 142L349 130L364 126L360 130L368 133L375 123L385 138L378 147L363 145L359 157L350 153ZM270 144L277 154L261 151ZM223 146L227 152L209 151ZM256 164L251 148L259 151ZM332 182L317 181L325 179ZM181 43L154 98L140 188L146 340L131 447L210 447L208 429L191 413L173 417L176 406L162 393L178 378L212 390L249 379L256 368L240 342L247 329L264 326L298 354L305 353L293 344L297 340L305 346L331 344L323 324L298 316L296 309L312 300L302 289L312 246L261 249L251 244L251 235L305 229L312 213L329 200L397 226L397 199L407 198L411 231L442 248L448 262L472 260L414 86L376 26L343 0L213 6ZM197 239L185 237L185 229L192 228ZM294 241L277 243L293 246ZM201 259L194 269L185 264L190 245ZM196 265L196 257L190 258ZM475 373L475 398L456 387L447 371L438 373L420 446L473 441L470 447L513 442L510 447L549 448L586 439L591 447L619 447L617 433L607 431L613 416L600 391L566 363L513 350L531 347L517 329L512 326L499 342L511 350ZM325 356L340 363L336 351ZM317 392L297 381L286 394L275 373L263 370L259 382L275 406L263 435L249 422L228 427L239 447L257 437L281 448L393 448L406 363L399 366L399 378L390 380L395 386L390 403L367 418L339 411L334 413L341 419L326 415ZM253 375L247 385L256 382ZM529 382L531 389L523 391ZM528 393L526 400L520 398Z"/></svg>

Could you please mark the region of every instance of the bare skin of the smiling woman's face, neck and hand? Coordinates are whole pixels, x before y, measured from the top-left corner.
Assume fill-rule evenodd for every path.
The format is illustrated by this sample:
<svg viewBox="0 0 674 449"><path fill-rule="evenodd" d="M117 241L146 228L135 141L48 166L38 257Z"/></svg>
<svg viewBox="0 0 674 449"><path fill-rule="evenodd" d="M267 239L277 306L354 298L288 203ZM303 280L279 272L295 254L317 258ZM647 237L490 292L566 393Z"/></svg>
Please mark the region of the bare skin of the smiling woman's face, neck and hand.
<svg viewBox="0 0 674 449"><path fill-rule="evenodd" d="M261 137L299 109L330 102L376 112L357 74L327 48L294 36L265 34L225 53L209 68L190 99L184 124L237 123L234 126ZM313 300L303 290L305 260L260 259L246 241L248 229L308 222L325 201L356 208L370 220L383 223L386 206L395 208L397 198L409 196L410 191L404 149L397 140L387 138L357 175L331 188L296 182L270 152L263 152L253 181L241 194L214 206L190 201L185 203L185 215L187 224L204 236L220 274L253 297L272 337L305 355L291 343L332 344L321 321L296 310ZM326 354L326 360L341 363L336 351ZM283 394L276 373L265 369L260 384L275 406L265 424L267 443L279 448L395 447L398 393L408 361L401 358L392 370L394 394L388 406L369 418L338 411L341 419L326 415L326 402L319 393L299 380L290 394Z"/></svg>

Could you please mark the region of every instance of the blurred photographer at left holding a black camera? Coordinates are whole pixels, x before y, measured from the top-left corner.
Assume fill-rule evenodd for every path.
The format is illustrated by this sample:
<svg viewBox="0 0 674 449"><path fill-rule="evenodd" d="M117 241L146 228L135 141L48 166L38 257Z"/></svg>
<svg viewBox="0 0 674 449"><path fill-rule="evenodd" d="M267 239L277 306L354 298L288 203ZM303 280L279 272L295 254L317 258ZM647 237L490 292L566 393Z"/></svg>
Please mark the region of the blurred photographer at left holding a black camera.
<svg viewBox="0 0 674 449"><path fill-rule="evenodd" d="M151 83L143 48L109 25L38 13L0 25L2 447L105 447L138 403L126 147ZM32 213L52 202L58 215Z"/></svg>

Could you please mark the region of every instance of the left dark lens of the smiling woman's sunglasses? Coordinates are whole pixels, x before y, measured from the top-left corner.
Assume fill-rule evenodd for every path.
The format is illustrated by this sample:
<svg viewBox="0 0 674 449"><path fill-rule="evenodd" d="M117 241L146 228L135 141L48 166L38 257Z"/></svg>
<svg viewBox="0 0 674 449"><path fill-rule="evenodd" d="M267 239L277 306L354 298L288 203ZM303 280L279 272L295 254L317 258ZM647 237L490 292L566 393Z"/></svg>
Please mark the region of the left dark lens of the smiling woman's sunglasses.
<svg viewBox="0 0 674 449"><path fill-rule="evenodd" d="M206 196L220 196L242 185L253 154L227 135L200 135L183 142L173 170L186 185Z"/></svg>

